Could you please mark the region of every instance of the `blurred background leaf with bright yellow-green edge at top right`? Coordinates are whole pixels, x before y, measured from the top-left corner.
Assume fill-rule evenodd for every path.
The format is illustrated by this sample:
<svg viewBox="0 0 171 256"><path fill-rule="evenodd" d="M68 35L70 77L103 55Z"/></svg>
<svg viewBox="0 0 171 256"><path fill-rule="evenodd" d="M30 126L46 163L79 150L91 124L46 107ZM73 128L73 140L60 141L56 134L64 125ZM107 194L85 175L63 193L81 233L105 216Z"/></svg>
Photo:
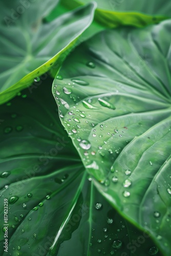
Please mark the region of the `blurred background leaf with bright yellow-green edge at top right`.
<svg viewBox="0 0 171 256"><path fill-rule="evenodd" d="M73 9L80 5L90 3L90 0L62 0L62 5ZM120 25L132 25L144 27L149 24L158 23L170 17L171 3L169 0L96 0L97 9L95 20L106 27L117 27Z"/></svg>

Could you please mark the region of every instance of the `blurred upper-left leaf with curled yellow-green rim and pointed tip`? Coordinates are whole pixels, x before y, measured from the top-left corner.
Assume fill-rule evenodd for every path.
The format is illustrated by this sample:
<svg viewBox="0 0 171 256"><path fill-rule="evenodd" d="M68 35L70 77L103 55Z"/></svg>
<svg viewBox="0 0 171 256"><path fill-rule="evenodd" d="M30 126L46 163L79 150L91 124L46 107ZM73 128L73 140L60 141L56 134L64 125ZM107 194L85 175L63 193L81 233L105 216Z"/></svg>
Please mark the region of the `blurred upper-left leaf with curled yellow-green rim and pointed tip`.
<svg viewBox="0 0 171 256"><path fill-rule="evenodd" d="M25 11L19 15L16 11L21 9L20 3L3 1L1 7L4 15L0 25L0 103L30 86L34 78L53 65L59 69L81 33L92 23L95 9L95 4L89 4L44 23L42 18L53 9L55 1L27 1L30 6L23 6Z"/></svg>

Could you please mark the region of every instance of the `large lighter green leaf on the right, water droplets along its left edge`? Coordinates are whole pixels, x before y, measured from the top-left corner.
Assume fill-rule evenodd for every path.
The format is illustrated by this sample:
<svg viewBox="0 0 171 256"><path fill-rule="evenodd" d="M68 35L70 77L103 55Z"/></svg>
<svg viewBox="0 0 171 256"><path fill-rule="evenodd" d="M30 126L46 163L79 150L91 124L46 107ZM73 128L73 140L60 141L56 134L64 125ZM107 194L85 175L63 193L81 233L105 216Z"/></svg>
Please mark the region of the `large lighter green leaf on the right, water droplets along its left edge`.
<svg viewBox="0 0 171 256"><path fill-rule="evenodd" d="M96 187L171 252L171 22L107 30L63 63L53 93ZM62 79L63 77L63 79Z"/></svg>

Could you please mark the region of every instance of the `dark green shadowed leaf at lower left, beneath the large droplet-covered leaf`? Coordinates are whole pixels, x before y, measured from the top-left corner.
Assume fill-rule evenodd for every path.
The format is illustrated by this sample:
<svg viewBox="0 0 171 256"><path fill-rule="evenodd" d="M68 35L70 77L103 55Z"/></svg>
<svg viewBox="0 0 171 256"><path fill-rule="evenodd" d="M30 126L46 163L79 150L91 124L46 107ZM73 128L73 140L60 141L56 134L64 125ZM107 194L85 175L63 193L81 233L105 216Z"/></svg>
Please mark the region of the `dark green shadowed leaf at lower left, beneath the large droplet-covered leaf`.
<svg viewBox="0 0 171 256"><path fill-rule="evenodd" d="M158 250L95 188L57 119L51 82L1 106L1 220L4 198L9 203L9 249L6 254L2 228L1 255L93 256L100 250L143 256Z"/></svg>

